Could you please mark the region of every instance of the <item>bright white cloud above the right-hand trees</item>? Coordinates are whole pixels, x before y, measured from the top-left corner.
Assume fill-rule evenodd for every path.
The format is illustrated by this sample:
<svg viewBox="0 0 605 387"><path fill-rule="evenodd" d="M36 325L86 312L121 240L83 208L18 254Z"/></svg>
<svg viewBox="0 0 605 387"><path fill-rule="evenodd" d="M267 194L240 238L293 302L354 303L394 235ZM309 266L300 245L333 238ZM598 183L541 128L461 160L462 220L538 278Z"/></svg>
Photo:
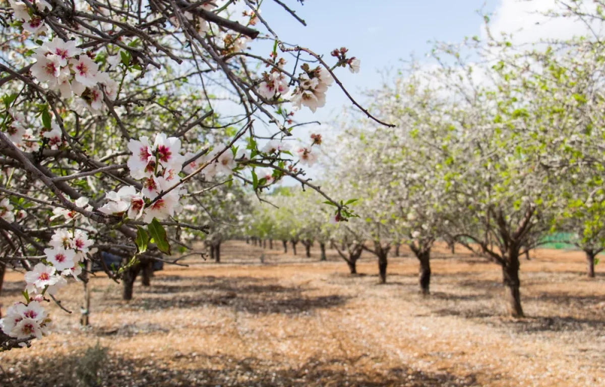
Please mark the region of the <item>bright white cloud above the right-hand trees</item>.
<svg viewBox="0 0 605 387"><path fill-rule="evenodd" d="M587 3L589 5L585 5L584 9L594 10L592 2ZM589 32L586 25L577 19L544 16L543 13L549 10L563 11L560 1L500 0L490 23L492 34L497 37L500 32L512 33L514 43L523 44L541 39L569 39ZM600 31L598 26L593 27ZM482 36L486 37L483 28Z"/></svg>

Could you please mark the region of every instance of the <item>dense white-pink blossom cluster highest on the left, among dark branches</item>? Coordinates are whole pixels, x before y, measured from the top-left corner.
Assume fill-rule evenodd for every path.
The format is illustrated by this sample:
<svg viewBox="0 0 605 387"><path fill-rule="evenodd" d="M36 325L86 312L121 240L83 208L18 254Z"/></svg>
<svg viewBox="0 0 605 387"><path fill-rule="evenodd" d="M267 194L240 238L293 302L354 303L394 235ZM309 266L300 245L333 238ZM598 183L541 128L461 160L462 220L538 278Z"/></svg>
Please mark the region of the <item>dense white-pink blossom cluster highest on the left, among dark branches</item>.
<svg viewBox="0 0 605 387"><path fill-rule="evenodd" d="M103 93L115 100L118 84L109 74L99 71L94 54L76 47L74 41L55 37L34 50L36 63L31 74L40 82L46 82L53 91L64 98L76 94L78 101L93 114L105 112ZM111 63L110 63L111 64Z"/></svg>

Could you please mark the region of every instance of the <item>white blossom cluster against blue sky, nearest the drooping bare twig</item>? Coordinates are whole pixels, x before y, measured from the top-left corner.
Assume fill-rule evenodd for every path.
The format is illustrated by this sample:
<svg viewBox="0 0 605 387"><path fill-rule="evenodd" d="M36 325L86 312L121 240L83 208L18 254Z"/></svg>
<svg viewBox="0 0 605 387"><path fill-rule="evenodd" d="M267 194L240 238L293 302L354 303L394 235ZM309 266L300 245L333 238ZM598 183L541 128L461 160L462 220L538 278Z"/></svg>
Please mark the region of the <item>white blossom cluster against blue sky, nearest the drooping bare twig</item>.
<svg viewBox="0 0 605 387"><path fill-rule="evenodd" d="M304 105L315 112L317 108L325 106L325 92L334 79L330 71L321 66L310 70L309 65L305 63L302 65L302 70L304 73L301 73L298 78L298 86L294 89L290 102L295 109L300 109L301 105Z"/></svg>

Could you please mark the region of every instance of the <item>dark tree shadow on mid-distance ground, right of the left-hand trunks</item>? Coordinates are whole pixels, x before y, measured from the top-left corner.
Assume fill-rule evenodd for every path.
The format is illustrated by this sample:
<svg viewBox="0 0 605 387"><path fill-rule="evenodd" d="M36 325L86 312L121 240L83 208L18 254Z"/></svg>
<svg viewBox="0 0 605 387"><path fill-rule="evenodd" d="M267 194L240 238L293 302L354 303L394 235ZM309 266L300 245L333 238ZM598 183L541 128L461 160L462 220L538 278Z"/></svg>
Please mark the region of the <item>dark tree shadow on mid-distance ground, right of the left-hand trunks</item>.
<svg viewBox="0 0 605 387"><path fill-rule="evenodd" d="M253 314L301 314L344 305L345 296L307 296L307 287L283 286L274 278L158 277L151 287L137 287L127 308L159 310L217 305ZM119 300L117 294L103 304Z"/></svg>

